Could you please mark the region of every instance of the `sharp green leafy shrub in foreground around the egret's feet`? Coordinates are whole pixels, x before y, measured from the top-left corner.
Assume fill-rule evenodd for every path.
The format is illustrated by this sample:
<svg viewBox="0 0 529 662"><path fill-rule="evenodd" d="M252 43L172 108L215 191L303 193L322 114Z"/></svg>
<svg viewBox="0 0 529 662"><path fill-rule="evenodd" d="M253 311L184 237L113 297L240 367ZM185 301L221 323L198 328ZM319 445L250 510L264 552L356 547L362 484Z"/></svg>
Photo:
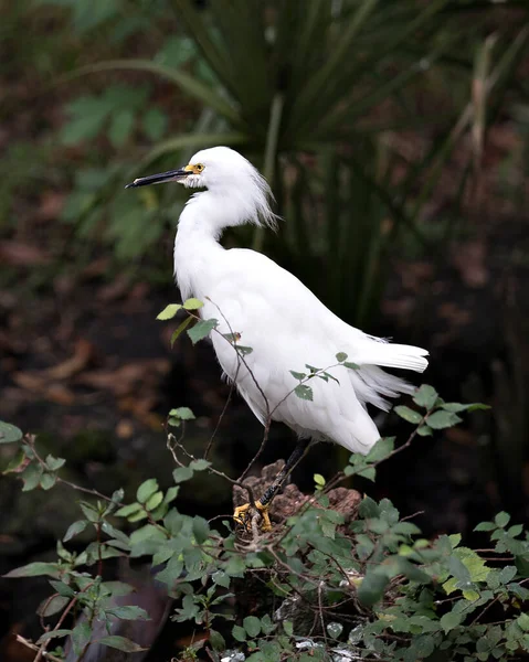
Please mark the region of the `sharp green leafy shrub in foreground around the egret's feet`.
<svg viewBox="0 0 529 662"><path fill-rule="evenodd" d="M170 306L160 316L171 319L184 311L191 319L200 301ZM207 323L200 320L198 323ZM188 330L190 333L197 325ZM219 332L215 325L208 333ZM225 338L235 348L239 335ZM248 349L248 348L246 348ZM241 352L241 360L247 352ZM338 364L347 355L337 355ZM358 366L345 370L356 370ZM326 370L307 366L296 373L299 382L324 378ZM331 375L328 375L331 376ZM288 396L305 398L294 388ZM0 426L0 442L18 444L20 451L8 468L23 481L23 490L52 489L56 483L88 493L80 501L82 519L72 523L57 543L57 560L31 563L7 577L46 576L52 594L40 606L43 619L56 619L36 642L42 652L51 641L70 638L82 660L91 645L138 651L133 641L110 633L116 619L147 619L148 612L115 599L131 590L124 583L104 581L108 558L148 559L156 578L177 600L172 619L191 622L207 639L181 658L194 659L205 647L211 660L235 649L252 662L277 660L416 660L470 662L507 661L529 652L529 537L507 513L476 527L490 542L473 549L459 534L429 541L420 528L401 517L395 506L366 495L352 521L329 508L328 493L343 480L374 480L377 467L405 449L416 436L457 425L458 414L484 408L444 402L434 388L421 386L413 396L415 408L396 413L415 426L403 445L381 439L367 457L351 456L345 471L330 480L315 474L315 492L298 512L269 533L257 528L235 531L229 521L213 527L201 516L178 510L181 483L197 472L218 471L210 461L186 449L183 438L168 434L167 446L177 467L174 484L160 489L154 478L142 482L134 498L123 490L110 496L74 485L62 478L64 460L40 456L31 436L22 438L13 426ZM182 427L194 418L188 407L169 413L168 425ZM244 484L242 484L244 487ZM250 500L253 499L248 490ZM65 546L81 533L93 540L81 551ZM78 549L78 545L77 545ZM234 613L229 599L236 598L240 583L258 578L266 599L255 613ZM65 617L76 608L85 618L68 627ZM234 623L232 621L235 620ZM108 634L95 634L103 622ZM34 644L31 644L34 645ZM59 660L61 649L46 653ZM435 654L434 654L435 652Z"/></svg>

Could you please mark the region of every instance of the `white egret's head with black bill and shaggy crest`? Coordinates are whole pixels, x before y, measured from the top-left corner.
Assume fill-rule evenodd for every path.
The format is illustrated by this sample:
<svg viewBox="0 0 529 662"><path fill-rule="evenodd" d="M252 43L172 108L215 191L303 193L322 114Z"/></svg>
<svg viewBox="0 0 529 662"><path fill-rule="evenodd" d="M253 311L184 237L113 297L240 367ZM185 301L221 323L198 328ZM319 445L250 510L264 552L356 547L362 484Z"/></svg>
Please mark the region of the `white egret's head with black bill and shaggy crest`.
<svg viewBox="0 0 529 662"><path fill-rule="evenodd" d="M125 188L163 182L178 182L188 189L208 189L222 197L237 200L247 209L245 221L275 226L276 216L268 203L273 195L266 180L247 159L229 147L202 149L188 166L135 179Z"/></svg>

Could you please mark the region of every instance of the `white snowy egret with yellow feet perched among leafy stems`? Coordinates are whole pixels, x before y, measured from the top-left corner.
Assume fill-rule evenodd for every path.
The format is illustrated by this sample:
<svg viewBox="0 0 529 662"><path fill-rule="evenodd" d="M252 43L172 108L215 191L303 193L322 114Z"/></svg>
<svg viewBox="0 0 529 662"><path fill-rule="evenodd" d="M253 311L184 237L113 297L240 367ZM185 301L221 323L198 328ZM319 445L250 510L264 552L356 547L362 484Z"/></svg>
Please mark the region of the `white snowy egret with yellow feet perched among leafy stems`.
<svg viewBox="0 0 529 662"><path fill-rule="evenodd" d="M197 297L204 302L204 319L219 319L218 332L211 333L219 363L261 423L283 421L299 436L285 468L256 502L262 527L268 530L269 503L310 441L327 439L369 452L380 435L367 405L388 410L385 397L414 391L380 366L423 372L427 351L350 327L261 253L221 246L225 227L276 225L266 180L236 151L204 149L184 168L136 179L126 188L170 181L207 189L191 196L178 224L174 274L182 298ZM252 348L244 362L236 343L226 341L232 333ZM308 391L295 393L301 382L306 386L300 374L307 375L309 366L325 369L327 377L318 373L324 378L316 375ZM247 512L247 504L237 508L235 520L244 523Z"/></svg>

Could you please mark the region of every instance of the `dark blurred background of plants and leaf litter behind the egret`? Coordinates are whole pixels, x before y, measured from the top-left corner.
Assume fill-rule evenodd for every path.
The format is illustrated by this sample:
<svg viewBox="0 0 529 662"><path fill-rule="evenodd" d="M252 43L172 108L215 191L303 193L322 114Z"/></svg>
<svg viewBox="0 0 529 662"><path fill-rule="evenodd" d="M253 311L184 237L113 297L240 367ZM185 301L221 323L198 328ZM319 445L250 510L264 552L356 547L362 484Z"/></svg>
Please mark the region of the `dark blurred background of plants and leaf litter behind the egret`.
<svg viewBox="0 0 529 662"><path fill-rule="evenodd" d="M170 483L171 407L193 409L186 439L202 452L229 386L205 343L182 335L171 349L176 323L156 321L179 300L172 243L188 193L124 184L226 145L264 172L285 222L277 235L230 232L225 246L265 252L347 322L427 348L423 378L445 399L493 407L417 438L375 485L355 487L422 513L429 535L469 535L499 510L527 522L525 0L0 0L0 10L2 420L103 492L133 493L152 476ZM410 433L391 414L378 423L402 442ZM237 476L261 436L233 397L218 468ZM293 447L274 428L264 462ZM0 447L2 467L13 452ZM295 480L311 489L315 470L329 478L346 461L315 449ZM53 556L76 508L62 487L44 498L0 477L0 572ZM230 489L204 477L180 509L228 514ZM0 584L0 637L31 632L25 581Z"/></svg>

